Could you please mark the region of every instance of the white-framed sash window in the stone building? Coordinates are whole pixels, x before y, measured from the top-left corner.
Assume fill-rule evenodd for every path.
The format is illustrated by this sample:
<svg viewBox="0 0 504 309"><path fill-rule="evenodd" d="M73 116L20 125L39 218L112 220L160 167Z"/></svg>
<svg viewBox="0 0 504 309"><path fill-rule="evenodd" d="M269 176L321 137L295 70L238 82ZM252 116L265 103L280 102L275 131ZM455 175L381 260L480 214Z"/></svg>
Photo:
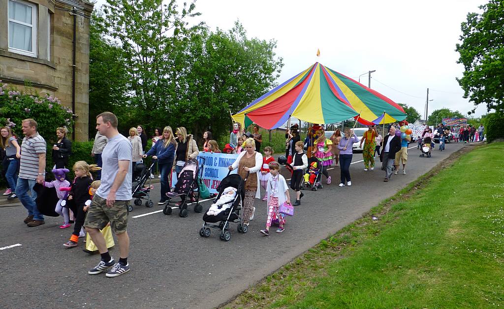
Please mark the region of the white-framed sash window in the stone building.
<svg viewBox="0 0 504 309"><path fill-rule="evenodd" d="M9 50L37 57L37 7L18 0L9 0Z"/></svg>

